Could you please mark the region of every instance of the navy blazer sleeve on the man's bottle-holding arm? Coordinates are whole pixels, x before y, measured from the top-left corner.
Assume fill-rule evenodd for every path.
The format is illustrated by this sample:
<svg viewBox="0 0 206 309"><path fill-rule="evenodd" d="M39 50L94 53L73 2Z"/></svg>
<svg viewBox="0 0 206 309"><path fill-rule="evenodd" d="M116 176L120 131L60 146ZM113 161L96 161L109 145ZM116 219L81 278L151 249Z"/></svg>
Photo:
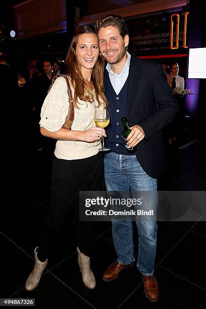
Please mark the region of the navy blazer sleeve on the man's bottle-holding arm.
<svg viewBox="0 0 206 309"><path fill-rule="evenodd" d="M156 111L138 123L144 130L146 139L169 125L178 112L178 102L167 83L167 78L161 65L158 65L156 68L151 91L153 91Z"/></svg>

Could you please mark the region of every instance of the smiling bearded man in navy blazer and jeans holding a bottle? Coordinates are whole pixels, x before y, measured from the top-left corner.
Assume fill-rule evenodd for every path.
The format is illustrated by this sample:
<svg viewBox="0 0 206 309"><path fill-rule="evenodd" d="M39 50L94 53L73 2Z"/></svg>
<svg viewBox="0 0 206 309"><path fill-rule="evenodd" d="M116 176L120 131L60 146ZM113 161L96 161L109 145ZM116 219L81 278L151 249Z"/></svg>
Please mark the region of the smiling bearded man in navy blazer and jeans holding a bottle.
<svg viewBox="0 0 206 309"><path fill-rule="evenodd" d="M107 130L105 179L109 191L155 191L157 177L165 167L162 129L177 113L174 98L161 65L137 59L127 52L129 35L121 16L104 16L95 24L102 56L108 62L105 92L109 101L111 125ZM121 116L128 119L131 133L125 148L121 137ZM157 194L156 194L157 196ZM153 201L152 207L157 199ZM154 273L156 256L156 221L136 221L139 234L137 268L142 274L144 290L150 301L159 297ZM117 261L104 273L111 281L123 269L134 265L133 231L130 219L112 220Z"/></svg>

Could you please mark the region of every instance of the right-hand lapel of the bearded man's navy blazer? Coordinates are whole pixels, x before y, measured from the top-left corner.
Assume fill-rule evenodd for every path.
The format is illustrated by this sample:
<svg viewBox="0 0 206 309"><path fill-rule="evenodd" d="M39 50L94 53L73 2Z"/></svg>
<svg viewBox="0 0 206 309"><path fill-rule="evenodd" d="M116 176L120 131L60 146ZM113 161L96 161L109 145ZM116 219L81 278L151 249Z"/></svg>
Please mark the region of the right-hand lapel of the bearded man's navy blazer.
<svg viewBox="0 0 206 309"><path fill-rule="evenodd" d="M142 67L138 63L138 59L131 55L130 66L129 66L129 76L127 85L127 117L132 105L132 100L138 85L139 77L141 74Z"/></svg>

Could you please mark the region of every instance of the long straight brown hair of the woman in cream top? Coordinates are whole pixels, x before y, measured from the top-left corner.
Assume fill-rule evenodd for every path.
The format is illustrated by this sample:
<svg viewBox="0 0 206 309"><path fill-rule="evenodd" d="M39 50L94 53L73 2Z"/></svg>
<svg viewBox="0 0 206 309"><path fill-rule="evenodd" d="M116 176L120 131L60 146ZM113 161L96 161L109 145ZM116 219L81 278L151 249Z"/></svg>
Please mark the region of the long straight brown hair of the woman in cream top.
<svg viewBox="0 0 206 309"><path fill-rule="evenodd" d="M74 31L74 36L72 42L70 44L65 65L66 65L66 72L71 78L71 83L74 88L74 106L78 108L78 98L82 101L92 102L94 100L94 93L92 89L88 86L85 82L79 63L76 58L76 46L78 37L80 34L84 33L93 33L96 35L95 29L92 26L77 26ZM104 84L103 84L103 76L104 76L104 67L105 67L105 60L99 54L98 59L96 61L95 66L93 67L92 74L91 74L91 81L93 82L94 89L95 89L95 96L98 102L98 106L104 102L107 106L108 101L104 93Z"/></svg>

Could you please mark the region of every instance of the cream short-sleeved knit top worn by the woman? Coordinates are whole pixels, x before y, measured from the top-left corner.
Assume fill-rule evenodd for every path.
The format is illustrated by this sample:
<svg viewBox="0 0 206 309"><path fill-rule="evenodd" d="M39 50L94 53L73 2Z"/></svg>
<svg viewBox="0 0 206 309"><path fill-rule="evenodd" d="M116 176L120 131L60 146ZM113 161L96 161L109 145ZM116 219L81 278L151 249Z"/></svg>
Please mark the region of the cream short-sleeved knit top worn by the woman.
<svg viewBox="0 0 206 309"><path fill-rule="evenodd" d="M72 95L74 97L74 89ZM80 109L74 110L74 121L72 130L86 131L94 127L93 122L95 105L98 103L94 98L92 103L78 100ZM50 132L59 131L65 123L68 115L69 100L67 94L67 83L64 77L59 77L47 94L42 108L40 127L44 127ZM84 142L73 140L58 140L55 148L55 156L59 159L76 160L84 159L96 155L100 147L100 141Z"/></svg>

